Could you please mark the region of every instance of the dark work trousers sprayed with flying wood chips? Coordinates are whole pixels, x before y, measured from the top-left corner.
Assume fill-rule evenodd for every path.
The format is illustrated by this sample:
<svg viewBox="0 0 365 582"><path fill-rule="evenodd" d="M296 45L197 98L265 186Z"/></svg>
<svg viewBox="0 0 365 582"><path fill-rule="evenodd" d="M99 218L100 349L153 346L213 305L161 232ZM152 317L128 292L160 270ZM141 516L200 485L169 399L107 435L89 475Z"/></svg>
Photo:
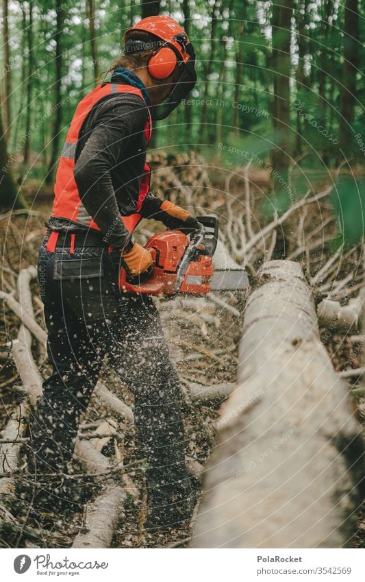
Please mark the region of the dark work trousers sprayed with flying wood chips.
<svg viewBox="0 0 365 582"><path fill-rule="evenodd" d="M47 236L45 242L47 241ZM53 373L32 422L32 473L66 472L79 418L105 356L134 394L138 457L147 459L149 510L190 495L179 378L151 298L121 295L121 255L108 247L40 248L38 278ZM160 509L158 509L160 508ZM163 510L164 511L164 510Z"/></svg>

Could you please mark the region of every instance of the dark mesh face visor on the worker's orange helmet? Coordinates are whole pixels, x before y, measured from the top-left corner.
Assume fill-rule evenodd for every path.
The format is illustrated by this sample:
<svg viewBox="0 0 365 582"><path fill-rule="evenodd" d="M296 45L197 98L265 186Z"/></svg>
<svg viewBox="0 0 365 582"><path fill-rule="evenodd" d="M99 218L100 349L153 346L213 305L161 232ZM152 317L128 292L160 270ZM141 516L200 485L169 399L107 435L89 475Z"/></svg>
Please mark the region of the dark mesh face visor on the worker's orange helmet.
<svg viewBox="0 0 365 582"><path fill-rule="evenodd" d="M190 45L191 47L191 45ZM160 105L151 108L151 117L154 121L166 119L168 115L173 112L175 108L181 103L183 99L190 93L197 82L197 73L195 72L195 55L192 50L192 55L186 64L181 64L184 67L179 80L174 84L170 95L166 97Z"/></svg>

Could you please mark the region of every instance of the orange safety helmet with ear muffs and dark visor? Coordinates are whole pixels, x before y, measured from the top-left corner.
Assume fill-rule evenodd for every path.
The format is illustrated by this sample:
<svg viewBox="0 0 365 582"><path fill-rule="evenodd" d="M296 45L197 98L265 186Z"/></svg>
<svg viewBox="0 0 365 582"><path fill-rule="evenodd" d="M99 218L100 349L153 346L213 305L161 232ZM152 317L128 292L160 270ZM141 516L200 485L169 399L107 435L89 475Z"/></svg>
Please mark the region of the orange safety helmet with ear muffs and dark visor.
<svg viewBox="0 0 365 582"><path fill-rule="evenodd" d="M157 36L160 41L155 43L128 38L129 32L141 30ZM153 79L164 80L181 67L181 75L176 82L168 101L153 108L153 119L165 119L171 111L188 95L197 82L195 73L195 53L184 28L170 16L149 16L140 20L136 25L127 29L124 38L125 53L134 53L147 49L155 50L151 53L148 62L149 74Z"/></svg>

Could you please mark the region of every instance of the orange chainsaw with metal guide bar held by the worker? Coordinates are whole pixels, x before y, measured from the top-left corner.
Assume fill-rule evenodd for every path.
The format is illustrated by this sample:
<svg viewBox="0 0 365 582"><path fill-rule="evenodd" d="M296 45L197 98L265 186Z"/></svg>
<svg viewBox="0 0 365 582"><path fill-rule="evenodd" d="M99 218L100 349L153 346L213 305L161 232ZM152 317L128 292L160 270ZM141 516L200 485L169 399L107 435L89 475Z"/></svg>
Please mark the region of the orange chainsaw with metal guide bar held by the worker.
<svg viewBox="0 0 365 582"><path fill-rule="evenodd" d="M180 230L159 232L144 248L151 252L153 269L145 276L128 278L120 270L122 293L164 295L177 293L206 295L210 291L240 291L249 287L244 269L214 269L212 257L218 243L218 220L197 217L199 229L188 236ZM143 274L144 275L144 274Z"/></svg>

